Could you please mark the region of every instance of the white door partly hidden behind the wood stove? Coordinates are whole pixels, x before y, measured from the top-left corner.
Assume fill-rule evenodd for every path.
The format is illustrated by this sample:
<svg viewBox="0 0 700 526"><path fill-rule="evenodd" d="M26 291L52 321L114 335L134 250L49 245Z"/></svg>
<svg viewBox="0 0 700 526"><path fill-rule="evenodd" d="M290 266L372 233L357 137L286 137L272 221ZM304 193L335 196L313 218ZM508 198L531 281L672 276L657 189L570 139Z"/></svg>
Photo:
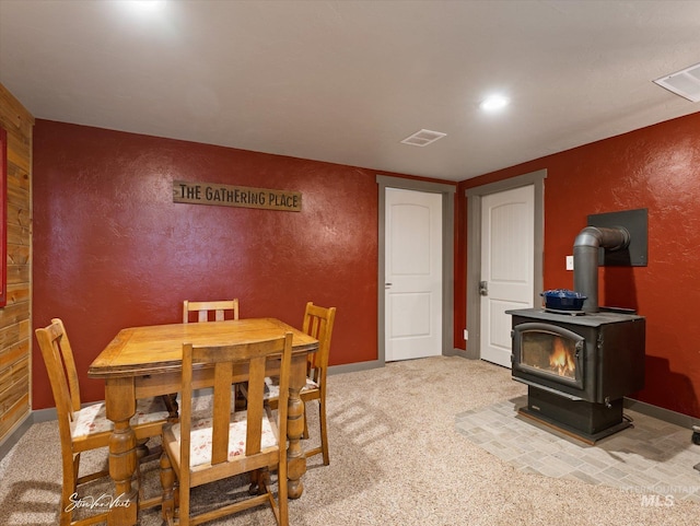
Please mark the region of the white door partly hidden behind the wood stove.
<svg viewBox="0 0 700 526"><path fill-rule="evenodd" d="M533 306L535 187L481 199L481 359L511 367L511 308Z"/></svg>

